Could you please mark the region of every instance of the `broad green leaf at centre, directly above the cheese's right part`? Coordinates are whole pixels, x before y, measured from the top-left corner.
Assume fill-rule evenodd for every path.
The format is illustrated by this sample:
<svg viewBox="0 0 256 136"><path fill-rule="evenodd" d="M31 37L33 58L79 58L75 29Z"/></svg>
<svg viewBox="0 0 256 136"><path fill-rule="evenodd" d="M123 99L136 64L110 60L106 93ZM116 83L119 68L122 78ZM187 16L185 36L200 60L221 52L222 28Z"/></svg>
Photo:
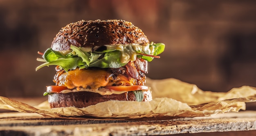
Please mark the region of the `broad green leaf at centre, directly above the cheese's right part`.
<svg viewBox="0 0 256 136"><path fill-rule="evenodd" d="M120 51L106 52L103 58L92 62L90 64L90 67L119 68L119 67L126 65L126 63L120 62L120 58L121 58Z"/></svg>

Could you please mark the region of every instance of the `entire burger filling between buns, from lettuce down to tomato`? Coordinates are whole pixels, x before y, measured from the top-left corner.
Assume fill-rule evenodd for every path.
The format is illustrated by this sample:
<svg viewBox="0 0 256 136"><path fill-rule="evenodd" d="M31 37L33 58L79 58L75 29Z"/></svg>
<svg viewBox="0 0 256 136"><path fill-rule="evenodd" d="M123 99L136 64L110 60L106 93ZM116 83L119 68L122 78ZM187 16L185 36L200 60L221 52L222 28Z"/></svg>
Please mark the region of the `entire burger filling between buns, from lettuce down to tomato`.
<svg viewBox="0 0 256 136"><path fill-rule="evenodd" d="M69 93L90 91L101 95L120 94L134 91L135 95L148 91L144 86L147 62L157 58L164 51L163 43L148 45L103 45L76 47L71 50L54 51L47 49L43 54L42 65L56 65L55 86L47 86L49 93Z"/></svg>

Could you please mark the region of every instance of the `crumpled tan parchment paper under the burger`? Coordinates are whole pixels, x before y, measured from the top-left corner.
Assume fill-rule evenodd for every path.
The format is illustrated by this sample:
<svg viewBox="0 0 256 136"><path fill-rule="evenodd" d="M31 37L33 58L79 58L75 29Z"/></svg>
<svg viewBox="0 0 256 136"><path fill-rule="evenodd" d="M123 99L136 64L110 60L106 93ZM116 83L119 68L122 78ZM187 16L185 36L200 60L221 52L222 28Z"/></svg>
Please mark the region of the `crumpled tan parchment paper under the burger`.
<svg viewBox="0 0 256 136"><path fill-rule="evenodd" d="M47 101L29 106L0 96L0 108L18 112L38 113L45 117L97 117L118 119L173 119L177 117L204 117L225 112L245 110L246 102L256 101L256 88L242 86L227 93L202 91L195 84L174 78L152 80L147 78L153 100L105 101L86 108L49 108Z"/></svg>

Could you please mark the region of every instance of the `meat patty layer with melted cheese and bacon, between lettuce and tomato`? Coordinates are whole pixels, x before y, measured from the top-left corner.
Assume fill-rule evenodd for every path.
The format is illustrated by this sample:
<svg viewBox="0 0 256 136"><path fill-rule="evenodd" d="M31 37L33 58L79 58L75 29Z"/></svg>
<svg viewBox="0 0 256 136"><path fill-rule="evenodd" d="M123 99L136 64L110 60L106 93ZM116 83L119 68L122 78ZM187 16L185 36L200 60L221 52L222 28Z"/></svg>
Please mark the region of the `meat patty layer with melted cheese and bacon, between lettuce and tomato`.
<svg viewBox="0 0 256 136"><path fill-rule="evenodd" d="M137 59L120 68L76 68L67 72L57 68L53 81L56 85L66 86L68 89L95 91L104 86L144 86L145 73L147 61Z"/></svg>

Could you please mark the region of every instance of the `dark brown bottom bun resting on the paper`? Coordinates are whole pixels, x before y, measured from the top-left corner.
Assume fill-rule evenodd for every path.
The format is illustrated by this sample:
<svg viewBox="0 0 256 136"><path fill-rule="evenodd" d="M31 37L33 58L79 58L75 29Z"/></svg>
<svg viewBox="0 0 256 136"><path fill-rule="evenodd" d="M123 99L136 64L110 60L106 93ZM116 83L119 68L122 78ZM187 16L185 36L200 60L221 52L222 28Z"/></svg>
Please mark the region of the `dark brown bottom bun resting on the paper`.
<svg viewBox="0 0 256 136"><path fill-rule="evenodd" d="M151 101L151 91L144 91L143 101ZM48 95L48 101L51 108L58 107L76 107L84 108L90 105L95 105L103 101L137 101L134 93L126 92L122 94L100 95L99 93L92 93L86 91L72 92L72 93L53 93Z"/></svg>

